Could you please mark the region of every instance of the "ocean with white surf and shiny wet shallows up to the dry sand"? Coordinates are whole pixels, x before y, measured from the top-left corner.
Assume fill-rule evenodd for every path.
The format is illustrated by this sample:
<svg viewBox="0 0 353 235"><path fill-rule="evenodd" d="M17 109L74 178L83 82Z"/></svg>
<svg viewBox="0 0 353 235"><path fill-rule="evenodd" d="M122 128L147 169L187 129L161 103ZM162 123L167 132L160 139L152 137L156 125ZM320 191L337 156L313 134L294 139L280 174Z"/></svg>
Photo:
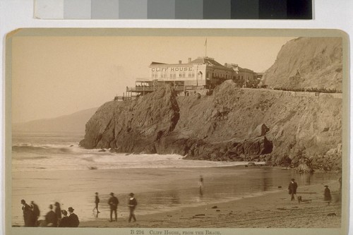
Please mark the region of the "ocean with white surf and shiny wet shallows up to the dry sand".
<svg viewBox="0 0 353 235"><path fill-rule="evenodd" d="M109 219L109 193L119 199L118 217L128 217L128 193L138 200L136 216L216 205L263 193L284 191L294 178L300 186L337 181L335 173L296 174L274 167L244 167L239 162L182 159L180 155L134 155L86 150L84 133L14 132L12 143L11 224L23 226L20 200L35 201L41 218L49 204L75 209L81 221ZM243 164L243 165L239 165ZM203 195L198 191L204 179ZM95 192L100 214L92 212Z"/></svg>

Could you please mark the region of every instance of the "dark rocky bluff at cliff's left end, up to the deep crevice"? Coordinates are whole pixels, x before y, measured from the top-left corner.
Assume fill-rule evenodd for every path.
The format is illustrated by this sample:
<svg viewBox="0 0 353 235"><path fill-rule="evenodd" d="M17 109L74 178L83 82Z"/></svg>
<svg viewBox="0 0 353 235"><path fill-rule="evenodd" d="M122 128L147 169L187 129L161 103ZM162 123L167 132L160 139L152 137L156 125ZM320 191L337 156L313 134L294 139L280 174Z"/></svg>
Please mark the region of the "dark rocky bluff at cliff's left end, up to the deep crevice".
<svg viewBox="0 0 353 235"><path fill-rule="evenodd" d="M107 102L86 124L86 148L155 153L155 142L174 130L179 107L172 88L161 88L133 102Z"/></svg>

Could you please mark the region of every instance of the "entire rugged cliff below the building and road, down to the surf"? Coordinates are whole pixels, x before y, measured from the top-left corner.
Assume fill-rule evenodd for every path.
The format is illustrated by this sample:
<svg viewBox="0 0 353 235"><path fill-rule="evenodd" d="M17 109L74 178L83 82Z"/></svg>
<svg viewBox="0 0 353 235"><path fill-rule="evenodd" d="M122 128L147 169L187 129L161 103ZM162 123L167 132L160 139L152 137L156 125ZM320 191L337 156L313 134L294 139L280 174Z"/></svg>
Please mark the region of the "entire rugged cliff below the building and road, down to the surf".
<svg viewBox="0 0 353 235"><path fill-rule="evenodd" d="M104 104L80 145L280 165L306 157L317 168L337 169L341 107L337 95L239 89L230 80L212 96L176 97L167 87L137 101Z"/></svg>

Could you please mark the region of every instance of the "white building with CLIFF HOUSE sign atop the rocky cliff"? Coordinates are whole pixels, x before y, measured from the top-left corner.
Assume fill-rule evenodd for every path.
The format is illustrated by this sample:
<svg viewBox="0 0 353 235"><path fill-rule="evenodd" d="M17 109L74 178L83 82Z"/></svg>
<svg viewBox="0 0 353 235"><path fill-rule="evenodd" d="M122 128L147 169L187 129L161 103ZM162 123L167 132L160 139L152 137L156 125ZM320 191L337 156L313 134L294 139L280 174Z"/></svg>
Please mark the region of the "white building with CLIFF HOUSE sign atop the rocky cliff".
<svg viewBox="0 0 353 235"><path fill-rule="evenodd" d="M225 80L232 79L239 87L247 87L257 80L257 75L247 68L240 68L237 64L222 65L208 56L198 57L188 63L164 64L152 62L149 66L148 78L136 78L136 85L126 89L126 95L145 95L154 91L158 86L170 84L179 94L187 95L190 91L206 92L213 90ZM129 93L130 92L130 93Z"/></svg>

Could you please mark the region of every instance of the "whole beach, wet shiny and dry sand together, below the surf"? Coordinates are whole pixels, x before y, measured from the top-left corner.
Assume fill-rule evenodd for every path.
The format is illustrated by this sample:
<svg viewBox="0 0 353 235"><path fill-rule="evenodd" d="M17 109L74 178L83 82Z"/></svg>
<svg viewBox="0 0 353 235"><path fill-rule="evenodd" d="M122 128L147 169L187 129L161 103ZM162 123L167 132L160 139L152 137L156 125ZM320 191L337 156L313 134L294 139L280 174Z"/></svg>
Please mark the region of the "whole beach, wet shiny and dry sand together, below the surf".
<svg viewBox="0 0 353 235"><path fill-rule="evenodd" d="M198 195L198 177L205 194ZM304 203L290 201L289 179L299 183ZM80 227L340 227L341 204L323 202L324 185L337 198L337 173L295 174L276 168L119 169L96 171L32 171L13 173L13 195L35 200L41 218L47 205L75 208ZM117 180L118 179L118 180ZM54 186L54 187L53 187ZM277 188L282 186L282 188ZM50 188L50 190L48 190ZM98 217L92 212L94 193L100 192ZM119 198L118 222L108 222L109 192ZM128 193L138 200L138 222L128 223ZM212 208L217 206L217 208ZM13 203L13 226L23 226L20 206ZM336 216L328 217L328 213ZM198 215L198 216L197 216Z"/></svg>

